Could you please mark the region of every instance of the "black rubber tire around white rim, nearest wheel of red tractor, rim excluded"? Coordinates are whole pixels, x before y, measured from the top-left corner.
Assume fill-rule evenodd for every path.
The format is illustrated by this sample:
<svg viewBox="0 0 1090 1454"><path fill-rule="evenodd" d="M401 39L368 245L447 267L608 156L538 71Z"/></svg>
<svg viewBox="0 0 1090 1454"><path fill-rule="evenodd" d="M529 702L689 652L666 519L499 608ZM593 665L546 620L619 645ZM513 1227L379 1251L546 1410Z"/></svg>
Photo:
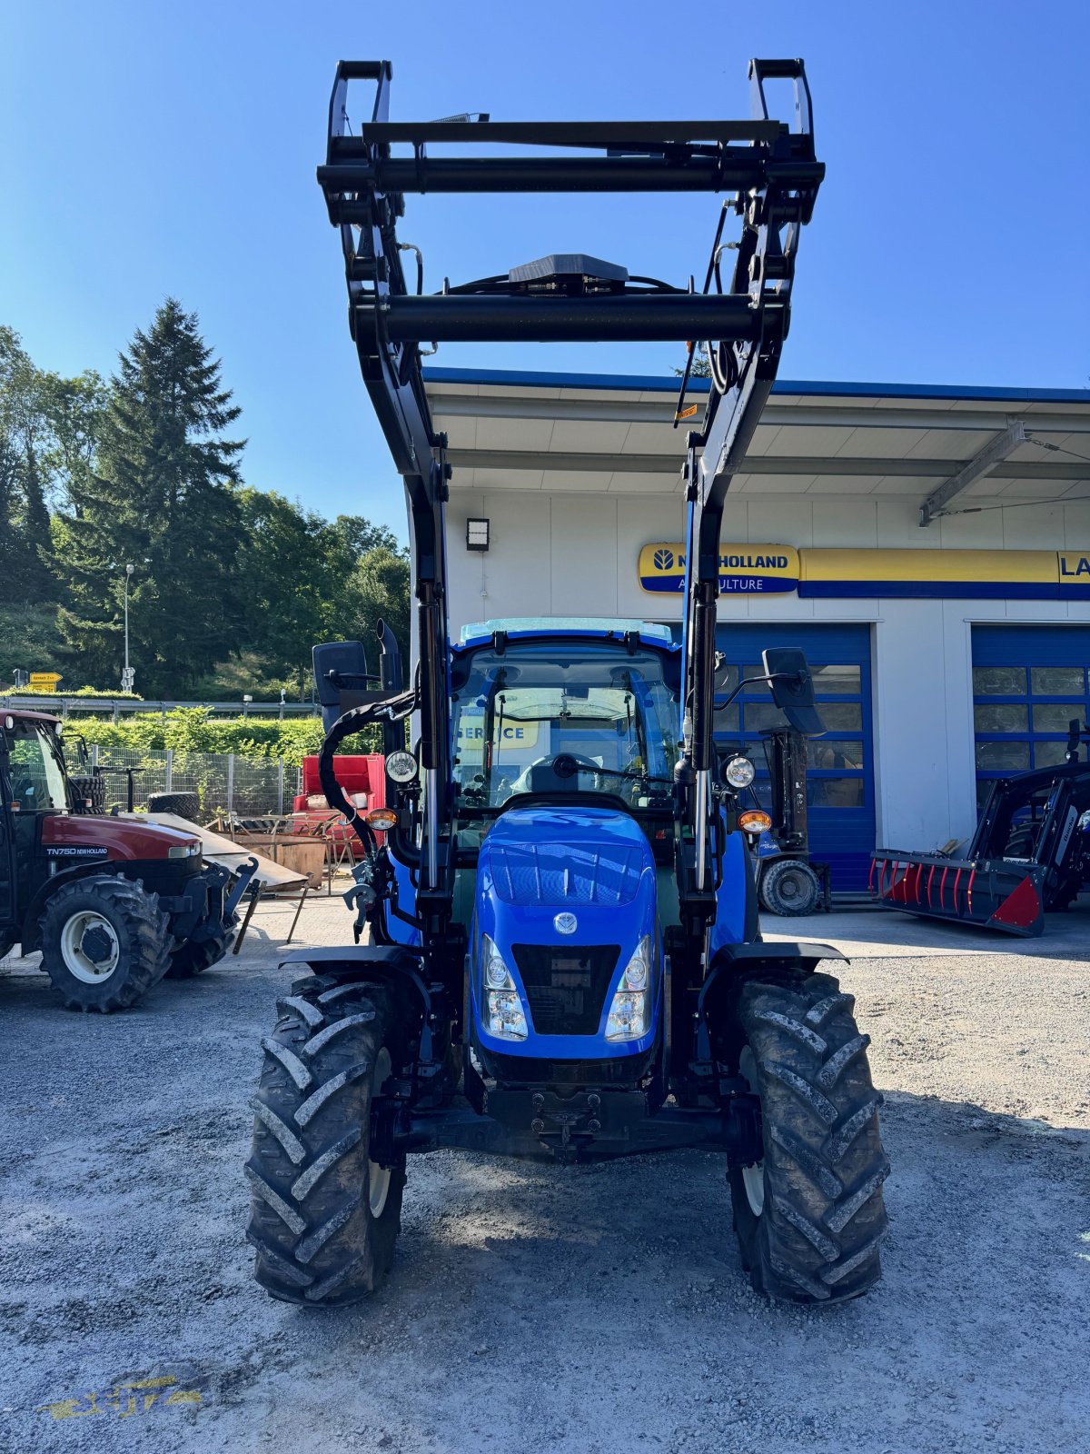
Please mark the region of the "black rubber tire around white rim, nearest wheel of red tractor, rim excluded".
<svg viewBox="0 0 1090 1454"><path fill-rule="evenodd" d="M80 913L106 919L118 941L118 965L94 984L73 974L62 933ZM64 884L45 903L41 919L42 968L65 1009L109 1015L128 1009L163 979L170 965L170 919L141 880L94 874Z"/></svg>

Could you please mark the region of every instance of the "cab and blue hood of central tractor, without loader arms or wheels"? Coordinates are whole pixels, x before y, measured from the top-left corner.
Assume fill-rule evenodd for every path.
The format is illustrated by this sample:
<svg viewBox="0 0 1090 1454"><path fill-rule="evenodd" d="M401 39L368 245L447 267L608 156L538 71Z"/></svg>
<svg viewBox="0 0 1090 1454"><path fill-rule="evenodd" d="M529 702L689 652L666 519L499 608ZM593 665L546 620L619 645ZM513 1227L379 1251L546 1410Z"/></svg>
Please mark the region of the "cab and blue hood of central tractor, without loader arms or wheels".
<svg viewBox="0 0 1090 1454"><path fill-rule="evenodd" d="M459 840L480 845L462 899L475 1066L549 1093L596 1090L610 1061L635 1086L661 1024L680 650L638 622L488 622L462 632L451 682Z"/></svg>

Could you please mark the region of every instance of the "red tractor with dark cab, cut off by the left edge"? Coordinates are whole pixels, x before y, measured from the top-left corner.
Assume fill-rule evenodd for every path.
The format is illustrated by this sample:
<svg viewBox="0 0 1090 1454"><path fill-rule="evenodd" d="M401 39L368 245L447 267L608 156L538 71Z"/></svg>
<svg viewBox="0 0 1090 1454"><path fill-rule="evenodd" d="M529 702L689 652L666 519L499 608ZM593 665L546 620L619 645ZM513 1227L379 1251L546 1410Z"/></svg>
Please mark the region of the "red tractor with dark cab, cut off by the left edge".
<svg viewBox="0 0 1090 1454"><path fill-rule="evenodd" d="M0 711L0 955L42 951L68 1009L128 1009L230 948L254 867L208 864L195 833L94 813L55 717Z"/></svg>

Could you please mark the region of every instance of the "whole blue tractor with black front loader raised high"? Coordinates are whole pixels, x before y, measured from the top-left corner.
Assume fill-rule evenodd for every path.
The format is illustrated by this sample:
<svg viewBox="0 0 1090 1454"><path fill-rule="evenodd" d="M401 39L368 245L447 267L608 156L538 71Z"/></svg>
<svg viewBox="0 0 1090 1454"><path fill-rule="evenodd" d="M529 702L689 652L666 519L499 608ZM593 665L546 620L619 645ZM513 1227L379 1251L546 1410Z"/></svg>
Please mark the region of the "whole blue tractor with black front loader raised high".
<svg viewBox="0 0 1090 1454"><path fill-rule="evenodd" d="M794 86L792 126L769 119L769 79ZM754 1287L856 1297L879 1277L888 1172L868 1037L818 970L834 949L762 941L766 814L744 806L753 765L716 758L712 734L722 505L776 375L823 176L802 64L750 64L750 122L404 125L388 121L389 80L387 63L342 63L318 179L405 483L416 664L405 686L382 624L376 675L362 643L314 651L323 788L363 845L346 896L356 944L291 957L299 979L263 1040L247 1165L257 1280L311 1306L372 1293L413 1154L701 1147L725 1157ZM352 81L375 87L359 135ZM429 142L517 151L432 158ZM571 253L436 295L419 268L407 288L405 192L558 189L727 192L703 291ZM730 217L741 237L724 285ZM558 618L449 641L451 468L420 356L421 343L477 339L712 340L708 403L686 436L680 641L639 621ZM677 419L696 413L686 382ZM801 651L766 651L757 679L796 731L821 730ZM388 807L366 814L337 784L336 750L372 724Z"/></svg>

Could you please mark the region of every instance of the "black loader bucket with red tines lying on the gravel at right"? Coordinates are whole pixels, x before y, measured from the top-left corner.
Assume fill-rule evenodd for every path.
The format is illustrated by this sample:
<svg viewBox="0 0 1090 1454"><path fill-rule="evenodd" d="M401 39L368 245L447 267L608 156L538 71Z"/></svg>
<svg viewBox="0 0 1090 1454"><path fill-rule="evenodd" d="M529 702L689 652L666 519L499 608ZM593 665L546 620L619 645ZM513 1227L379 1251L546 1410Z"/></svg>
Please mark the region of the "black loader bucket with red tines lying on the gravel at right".
<svg viewBox="0 0 1090 1454"><path fill-rule="evenodd" d="M878 848L871 897L929 919L1036 938L1045 928L1045 869L1019 858L943 858Z"/></svg>

